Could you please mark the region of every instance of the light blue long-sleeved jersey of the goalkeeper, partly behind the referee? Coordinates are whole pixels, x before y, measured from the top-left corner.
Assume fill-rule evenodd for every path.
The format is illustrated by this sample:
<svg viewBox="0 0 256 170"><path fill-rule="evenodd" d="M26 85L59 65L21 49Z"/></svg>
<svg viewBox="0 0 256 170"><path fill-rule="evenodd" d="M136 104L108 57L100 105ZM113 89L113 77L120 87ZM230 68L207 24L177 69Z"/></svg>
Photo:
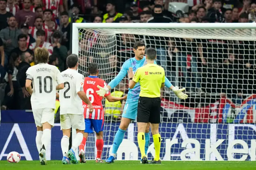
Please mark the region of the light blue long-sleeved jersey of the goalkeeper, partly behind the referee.
<svg viewBox="0 0 256 170"><path fill-rule="evenodd" d="M135 73L138 68L146 64L147 64L146 57L143 57L143 59L141 60L136 60L135 57L126 60L122 65L122 68L118 73L118 75L112 81L110 81L108 85L111 87L111 89L113 89L114 87L116 87L116 85L120 83L120 81L122 81L122 79L124 79L126 74L128 74L127 72L129 70L129 67L132 67L133 73ZM156 61L155 61L155 64L156 64ZM166 77L165 77L165 86L168 88L172 86L172 84ZM126 103L138 102L139 95L140 95L140 83L138 82L136 83L133 89L129 88Z"/></svg>

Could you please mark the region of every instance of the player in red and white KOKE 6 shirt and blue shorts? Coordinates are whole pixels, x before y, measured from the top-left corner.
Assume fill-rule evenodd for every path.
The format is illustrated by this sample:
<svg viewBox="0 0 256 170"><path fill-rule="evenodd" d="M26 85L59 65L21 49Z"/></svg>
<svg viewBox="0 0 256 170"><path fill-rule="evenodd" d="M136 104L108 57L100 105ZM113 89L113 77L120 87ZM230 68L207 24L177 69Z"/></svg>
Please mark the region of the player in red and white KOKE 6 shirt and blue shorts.
<svg viewBox="0 0 256 170"><path fill-rule="evenodd" d="M85 121L85 130L84 130L84 138L82 143L79 146L79 157L80 162L85 163L85 154L84 154L84 145L86 143L88 133L93 133L93 129L96 132L96 148L97 148L97 156L96 162L102 162L101 153L104 145L103 141L103 128L104 128L104 111L102 107L102 99L97 95L96 91L98 90L97 86L104 87L106 86L106 82L100 78L98 78L98 65L96 63L91 63L88 66L89 76L84 79L84 92L86 96L92 103L94 107L94 111L89 113L89 109L87 108L86 103L83 102L84 107L84 121ZM108 91L104 96L109 102L116 102L125 100L127 96L124 97L113 97L110 95Z"/></svg>

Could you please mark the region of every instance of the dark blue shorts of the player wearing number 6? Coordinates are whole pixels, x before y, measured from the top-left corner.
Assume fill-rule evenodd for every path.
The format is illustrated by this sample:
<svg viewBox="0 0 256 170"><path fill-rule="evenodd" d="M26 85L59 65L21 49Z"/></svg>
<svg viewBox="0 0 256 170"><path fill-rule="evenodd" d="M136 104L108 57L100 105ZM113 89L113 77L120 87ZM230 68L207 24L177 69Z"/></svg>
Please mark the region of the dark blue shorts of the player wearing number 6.
<svg viewBox="0 0 256 170"><path fill-rule="evenodd" d="M93 133L93 129L96 133L103 131L104 129L104 120L96 119L84 119L86 133ZM92 129L93 128L93 129Z"/></svg>

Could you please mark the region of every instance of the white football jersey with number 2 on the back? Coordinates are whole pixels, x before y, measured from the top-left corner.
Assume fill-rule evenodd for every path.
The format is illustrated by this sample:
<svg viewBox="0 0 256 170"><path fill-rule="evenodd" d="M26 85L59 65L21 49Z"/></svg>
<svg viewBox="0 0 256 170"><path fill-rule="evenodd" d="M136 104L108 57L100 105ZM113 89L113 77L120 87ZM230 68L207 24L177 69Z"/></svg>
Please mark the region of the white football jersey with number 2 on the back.
<svg viewBox="0 0 256 170"><path fill-rule="evenodd" d="M61 72L64 80L64 89L60 90L60 115L83 114L83 103L78 96L79 91L84 91L84 76L74 69Z"/></svg>

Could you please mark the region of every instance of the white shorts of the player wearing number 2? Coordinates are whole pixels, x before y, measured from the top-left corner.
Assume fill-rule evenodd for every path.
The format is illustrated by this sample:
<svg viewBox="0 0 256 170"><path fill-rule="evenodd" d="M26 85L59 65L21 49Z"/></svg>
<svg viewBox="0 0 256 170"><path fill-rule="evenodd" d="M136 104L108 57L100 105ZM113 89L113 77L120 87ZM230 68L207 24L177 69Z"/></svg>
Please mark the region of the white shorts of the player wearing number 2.
<svg viewBox="0 0 256 170"><path fill-rule="evenodd" d="M84 115L64 114L60 115L61 129L85 130Z"/></svg>

